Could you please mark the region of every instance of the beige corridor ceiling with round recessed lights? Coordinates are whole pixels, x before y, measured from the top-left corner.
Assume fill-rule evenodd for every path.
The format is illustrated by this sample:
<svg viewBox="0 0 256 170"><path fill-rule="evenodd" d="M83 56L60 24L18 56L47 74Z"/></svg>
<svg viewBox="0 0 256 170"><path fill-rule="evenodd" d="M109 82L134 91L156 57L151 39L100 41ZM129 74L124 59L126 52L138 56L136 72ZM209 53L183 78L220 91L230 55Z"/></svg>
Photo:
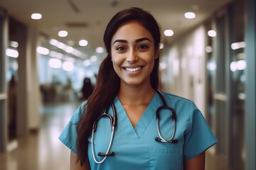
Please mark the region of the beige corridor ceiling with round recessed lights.
<svg viewBox="0 0 256 170"><path fill-rule="evenodd" d="M78 50L94 55L95 48L103 45L103 33L108 21L117 11L137 6L150 11L162 30L174 30L172 37L162 37L164 43L171 43L183 33L198 26L215 11L232 0L1 0L11 17L36 29L45 38L54 38ZM1 9L0 8L0 9ZM196 13L196 18L186 19L187 11ZM31 13L41 13L41 20L31 20ZM58 37L59 30L67 30L68 36ZM80 47L78 41L88 41Z"/></svg>

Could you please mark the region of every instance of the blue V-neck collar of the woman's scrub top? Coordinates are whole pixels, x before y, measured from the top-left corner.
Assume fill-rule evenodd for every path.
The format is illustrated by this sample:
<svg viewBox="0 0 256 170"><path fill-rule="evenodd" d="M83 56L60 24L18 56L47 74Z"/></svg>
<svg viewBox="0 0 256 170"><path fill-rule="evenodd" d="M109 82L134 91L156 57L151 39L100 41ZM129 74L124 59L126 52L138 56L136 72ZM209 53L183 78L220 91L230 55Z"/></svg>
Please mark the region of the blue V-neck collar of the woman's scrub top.
<svg viewBox="0 0 256 170"><path fill-rule="evenodd" d="M156 115L156 109L160 106L157 93L154 94L149 105L146 107L142 117L139 119L135 127L132 126L131 121L128 118L127 113L122 106L121 101L116 96L114 98L114 106L117 110L117 129L122 130L130 139L140 138L148 128L149 124Z"/></svg>

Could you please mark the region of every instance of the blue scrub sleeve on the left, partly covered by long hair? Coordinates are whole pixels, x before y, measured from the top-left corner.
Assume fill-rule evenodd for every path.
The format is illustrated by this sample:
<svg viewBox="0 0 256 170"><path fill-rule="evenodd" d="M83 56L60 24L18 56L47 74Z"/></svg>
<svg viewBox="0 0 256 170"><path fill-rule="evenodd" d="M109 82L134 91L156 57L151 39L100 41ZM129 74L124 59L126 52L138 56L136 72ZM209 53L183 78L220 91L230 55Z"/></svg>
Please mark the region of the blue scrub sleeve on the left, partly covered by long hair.
<svg viewBox="0 0 256 170"><path fill-rule="evenodd" d="M80 120L80 117L82 113L85 111L85 102L83 102L78 109L73 114L72 118L68 122L68 125L65 126L63 132L60 134L59 140L63 142L63 144L68 147L71 151L74 153L77 153L77 147L76 147L76 140L77 140L77 132L76 132L76 126L78 123L78 120Z"/></svg>

